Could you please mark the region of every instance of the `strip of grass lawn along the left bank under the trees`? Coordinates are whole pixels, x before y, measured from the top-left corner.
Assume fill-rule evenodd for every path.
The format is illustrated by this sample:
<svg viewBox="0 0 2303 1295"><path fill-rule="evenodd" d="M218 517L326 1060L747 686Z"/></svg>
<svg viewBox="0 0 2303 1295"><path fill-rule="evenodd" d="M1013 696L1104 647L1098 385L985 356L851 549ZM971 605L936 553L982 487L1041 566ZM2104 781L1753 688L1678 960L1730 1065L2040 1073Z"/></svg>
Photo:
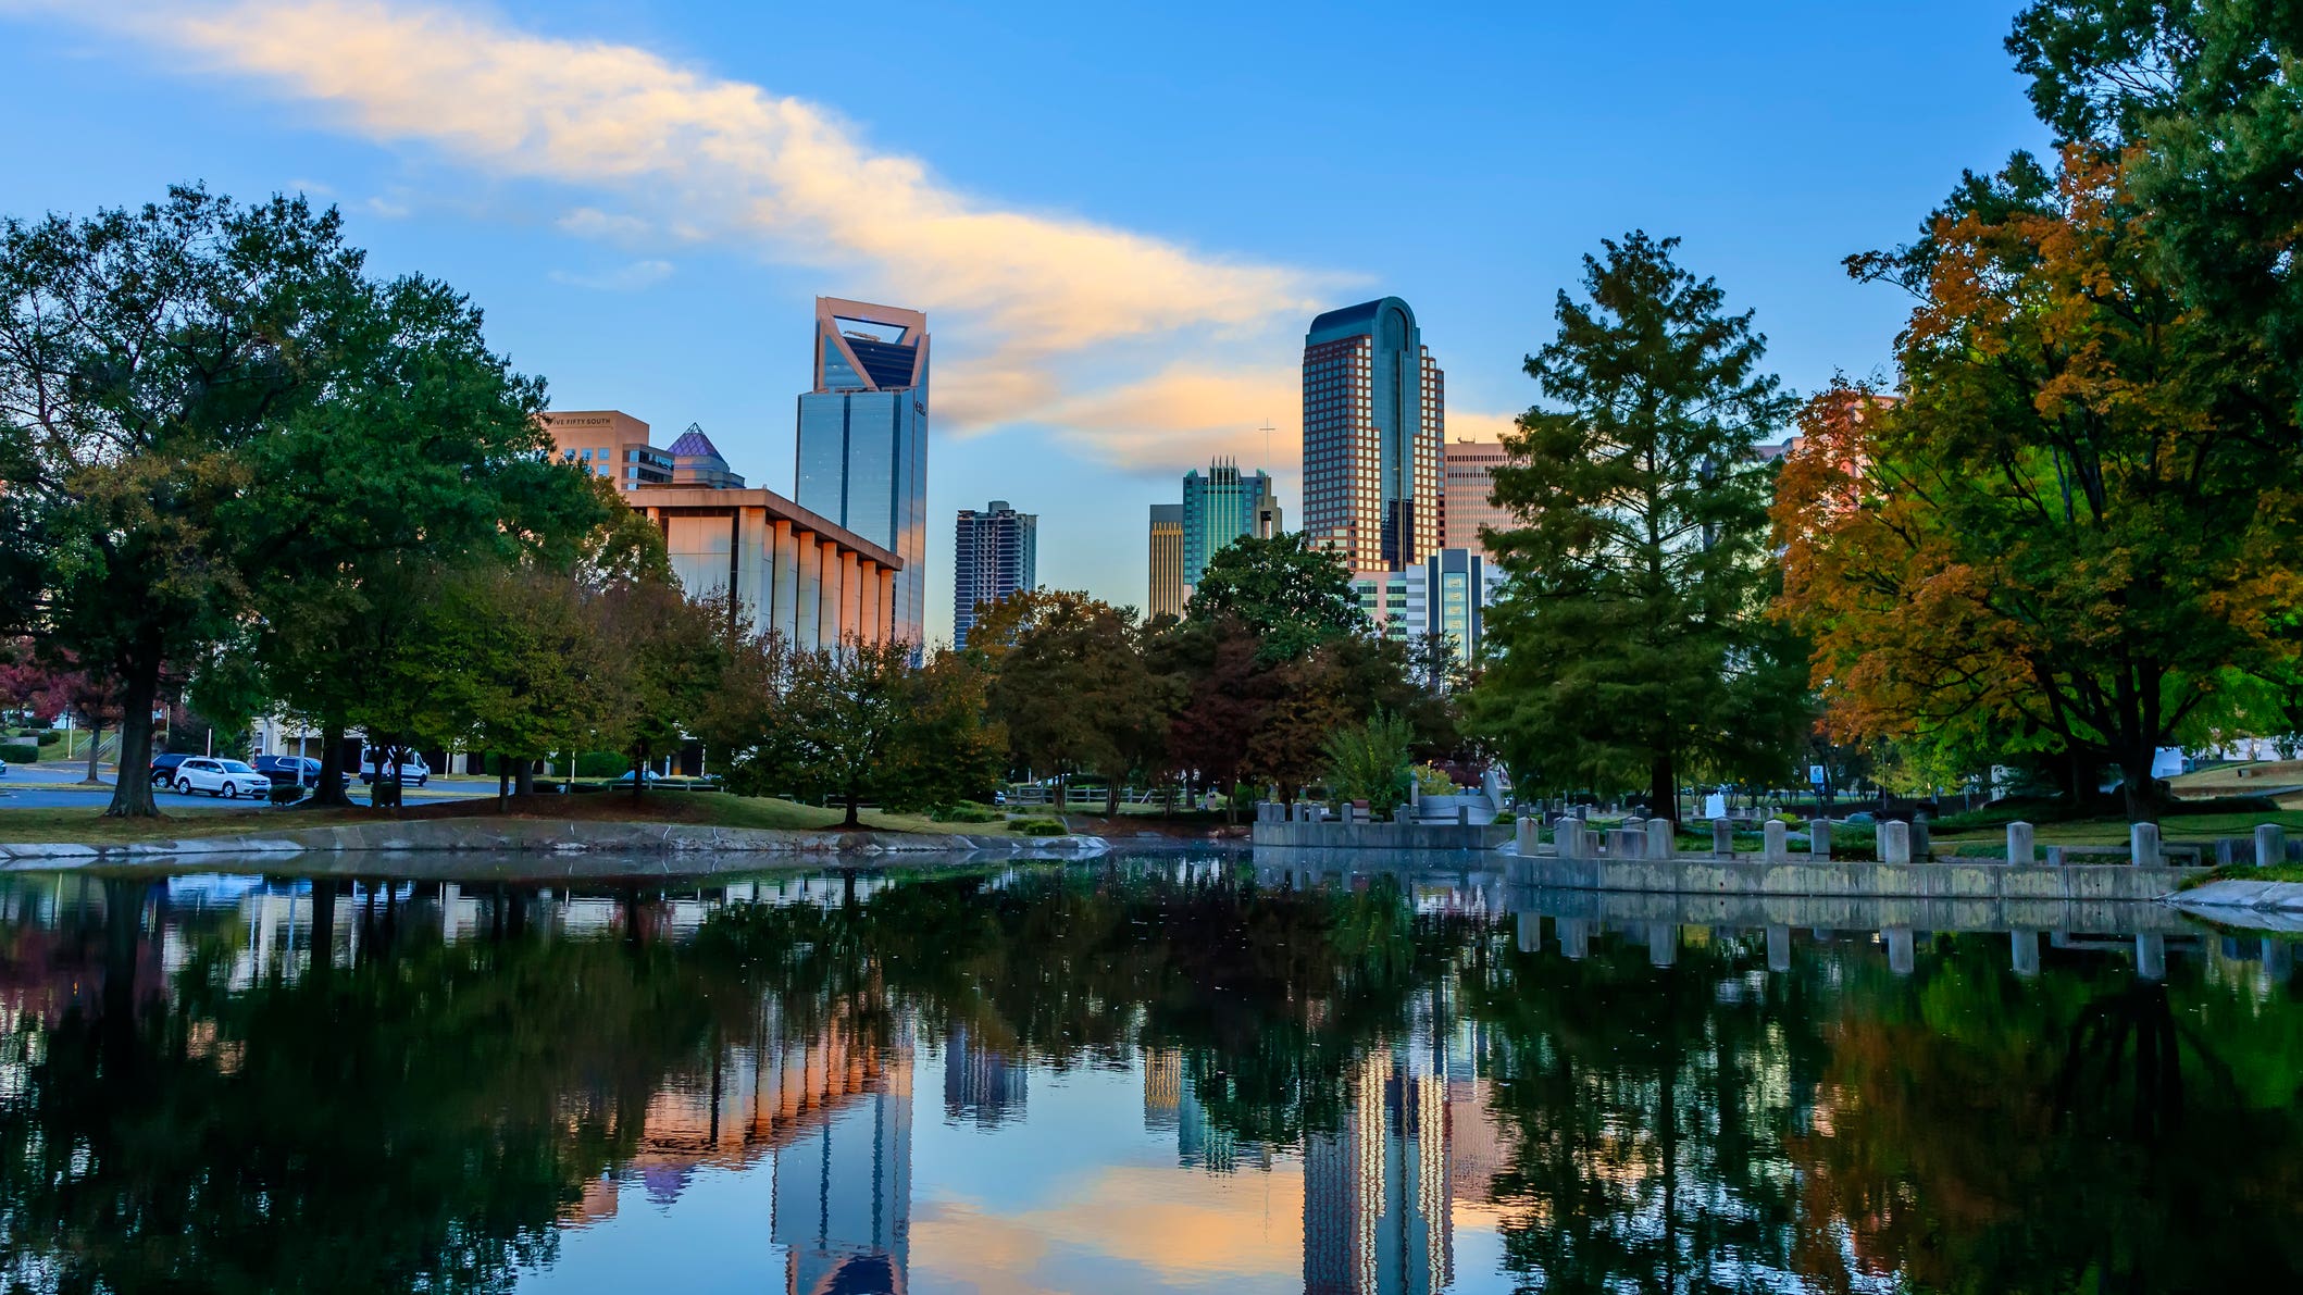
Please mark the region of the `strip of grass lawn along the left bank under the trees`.
<svg viewBox="0 0 2303 1295"><path fill-rule="evenodd" d="M336 827L343 823L412 818L497 818L495 800L447 800L389 809L193 809L168 806L164 818L104 818L94 809L7 809L0 806L0 841L111 846L127 841L170 841L177 836L233 836L242 832L295 832L299 827ZM652 790L638 804L631 795L527 795L514 797L504 818L553 818L596 823L698 823L712 827L783 827L815 832L841 823L838 809L818 809L790 800L753 800L728 793ZM965 832L1002 836L1006 823L935 823L910 813L861 813L866 827L882 832Z"/></svg>

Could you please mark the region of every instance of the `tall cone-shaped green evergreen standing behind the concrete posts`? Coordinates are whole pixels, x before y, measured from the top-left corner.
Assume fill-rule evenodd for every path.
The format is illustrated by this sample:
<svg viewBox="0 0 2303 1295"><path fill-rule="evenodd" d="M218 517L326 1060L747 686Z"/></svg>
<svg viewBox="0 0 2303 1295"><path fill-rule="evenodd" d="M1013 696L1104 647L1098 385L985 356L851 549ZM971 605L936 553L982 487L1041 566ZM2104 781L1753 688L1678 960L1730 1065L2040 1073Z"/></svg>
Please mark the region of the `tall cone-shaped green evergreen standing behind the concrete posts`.
<svg viewBox="0 0 2303 1295"><path fill-rule="evenodd" d="M1548 406L1506 436L1485 535L1508 571L1488 611L1476 726L1520 786L1644 772L1649 811L1679 816L1681 763L1757 696L1766 648L1766 475L1753 452L1792 410L1759 369L1766 341L1679 240L1633 233L1584 258L1587 302L1559 293L1559 336L1527 359ZM1739 694L1743 694L1739 698Z"/></svg>

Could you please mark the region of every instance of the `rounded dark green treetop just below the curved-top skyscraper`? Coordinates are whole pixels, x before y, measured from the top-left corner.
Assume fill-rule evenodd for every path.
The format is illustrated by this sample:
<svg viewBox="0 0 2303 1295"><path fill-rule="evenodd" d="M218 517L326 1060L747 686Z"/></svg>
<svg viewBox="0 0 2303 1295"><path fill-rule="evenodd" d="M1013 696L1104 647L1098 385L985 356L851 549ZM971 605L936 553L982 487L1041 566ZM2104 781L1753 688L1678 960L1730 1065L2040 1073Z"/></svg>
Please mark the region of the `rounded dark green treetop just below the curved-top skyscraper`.
<svg viewBox="0 0 2303 1295"><path fill-rule="evenodd" d="M1322 643L1368 631L1352 571L1299 532L1244 535L1218 548L1184 615L1248 627L1264 664L1294 661Z"/></svg>

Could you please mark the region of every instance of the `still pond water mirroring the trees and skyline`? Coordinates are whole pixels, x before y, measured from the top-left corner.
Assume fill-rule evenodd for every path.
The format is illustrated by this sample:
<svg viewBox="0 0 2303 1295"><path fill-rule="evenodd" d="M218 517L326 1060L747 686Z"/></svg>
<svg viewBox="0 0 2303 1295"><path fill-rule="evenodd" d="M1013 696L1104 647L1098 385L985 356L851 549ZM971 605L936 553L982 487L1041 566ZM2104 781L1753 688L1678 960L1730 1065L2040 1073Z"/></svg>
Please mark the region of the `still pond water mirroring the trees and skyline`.
<svg viewBox="0 0 2303 1295"><path fill-rule="evenodd" d="M0 1286L2303 1272L2289 947L2156 906L2027 956L1476 871L520 866L0 878Z"/></svg>

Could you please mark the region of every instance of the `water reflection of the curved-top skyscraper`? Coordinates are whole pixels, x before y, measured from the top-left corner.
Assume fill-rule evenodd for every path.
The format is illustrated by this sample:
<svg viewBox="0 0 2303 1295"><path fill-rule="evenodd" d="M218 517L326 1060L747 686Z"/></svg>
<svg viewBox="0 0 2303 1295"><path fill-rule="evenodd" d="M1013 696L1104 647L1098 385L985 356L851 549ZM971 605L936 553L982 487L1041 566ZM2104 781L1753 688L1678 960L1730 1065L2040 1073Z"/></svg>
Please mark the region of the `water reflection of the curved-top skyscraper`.
<svg viewBox="0 0 2303 1295"><path fill-rule="evenodd" d="M1336 1129L1303 1138L1303 1290L1435 1295L1453 1277L1446 1078L1370 1053Z"/></svg>

